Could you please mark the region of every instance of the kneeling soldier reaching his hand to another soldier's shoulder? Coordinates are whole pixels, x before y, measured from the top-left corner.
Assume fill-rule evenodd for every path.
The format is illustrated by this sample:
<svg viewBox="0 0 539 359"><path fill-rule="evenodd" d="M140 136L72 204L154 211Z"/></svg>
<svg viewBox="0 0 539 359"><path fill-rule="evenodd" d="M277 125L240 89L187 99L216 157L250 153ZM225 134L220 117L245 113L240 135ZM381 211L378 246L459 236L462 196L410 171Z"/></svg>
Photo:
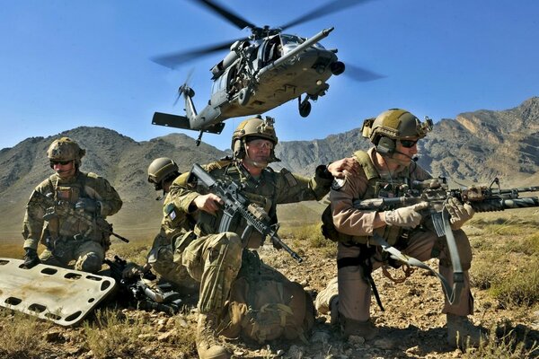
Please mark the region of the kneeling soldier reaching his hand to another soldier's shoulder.
<svg viewBox="0 0 539 359"><path fill-rule="evenodd" d="M273 171L268 165L278 161L275 157L277 143L278 138L271 118L247 119L234 131L231 145L234 157L206 166L206 171L216 180L236 183L241 188L242 196L264 211L272 224L278 223L278 204L321 199L328 193L333 175L340 176L344 170L351 171L356 163L345 159L327 167L321 165L311 179L287 170ZM249 297L256 297L255 293L278 295L279 286L281 289L283 286L287 287L280 292L281 296L287 298L265 295L259 297L259 302L264 305L270 302L278 304L284 300L287 307L296 308L294 312L298 322L290 323L290 327L300 330L285 329L285 337L288 337L287 334L296 336L301 328L309 328L308 318L314 318L314 314L309 310L312 309L312 300L305 297L308 294L301 286L287 281L275 269L261 264L256 252L247 250L261 246L264 238L259 232L252 231L243 235L247 227L243 218L235 223L232 221L226 232L219 231L219 223L224 215L223 201L215 193L208 192L196 178L181 176L174 180L168 201L168 204L165 203L164 212L169 218L178 218L179 215L193 215L198 218L194 232L174 241L174 260L186 267L190 276L200 282L197 329L200 358L231 356L219 341L219 334L234 337L240 331L246 334L254 330L259 333L256 339L260 342L273 338L273 333L261 332L260 325L256 328L238 325L256 321L254 317L242 320L241 315L236 316L234 313L247 311L249 305L245 305L246 300L254 306L256 299L249 300ZM243 276L242 272L246 275ZM276 284L278 282L284 285ZM291 298L299 302L293 303ZM231 304L232 302L237 304ZM278 305L275 307L283 308ZM283 322L289 323L285 320L285 315L286 313L283 313ZM312 325L312 321L310 323Z"/></svg>

